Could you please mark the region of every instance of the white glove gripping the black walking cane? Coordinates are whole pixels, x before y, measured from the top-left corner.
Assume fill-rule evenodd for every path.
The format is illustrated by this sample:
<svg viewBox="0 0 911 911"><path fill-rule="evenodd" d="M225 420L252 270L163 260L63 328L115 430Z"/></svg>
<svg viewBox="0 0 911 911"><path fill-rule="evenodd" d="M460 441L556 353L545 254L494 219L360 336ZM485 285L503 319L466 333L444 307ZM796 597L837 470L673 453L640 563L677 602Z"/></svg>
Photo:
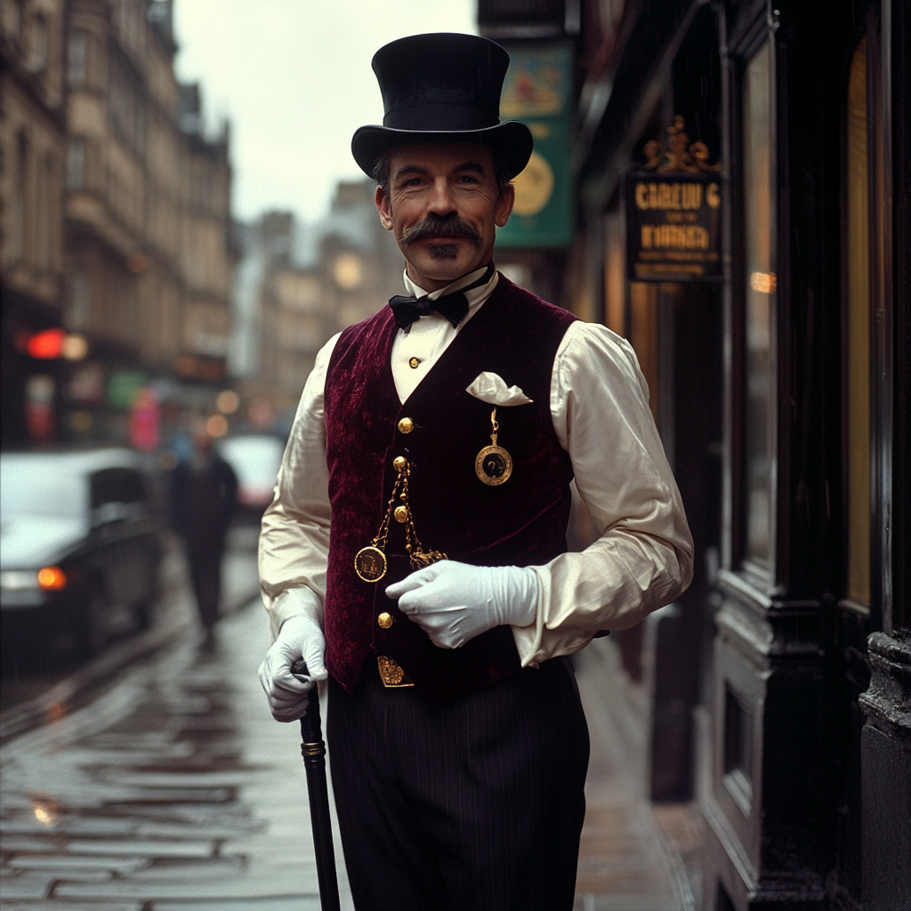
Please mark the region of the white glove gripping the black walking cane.
<svg viewBox="0 0 911 911"><path fill-rule="evenodd" d="M307 693L316 686L316 681L329 676L325 651L325 637L320 624L312 617L299 614L281 624L279 638L260 665L260 683L266 691L272 718L277 722L293 722L307 713ZM310 671L307 677L291 672L292 664L301 658Z"/></svg>

